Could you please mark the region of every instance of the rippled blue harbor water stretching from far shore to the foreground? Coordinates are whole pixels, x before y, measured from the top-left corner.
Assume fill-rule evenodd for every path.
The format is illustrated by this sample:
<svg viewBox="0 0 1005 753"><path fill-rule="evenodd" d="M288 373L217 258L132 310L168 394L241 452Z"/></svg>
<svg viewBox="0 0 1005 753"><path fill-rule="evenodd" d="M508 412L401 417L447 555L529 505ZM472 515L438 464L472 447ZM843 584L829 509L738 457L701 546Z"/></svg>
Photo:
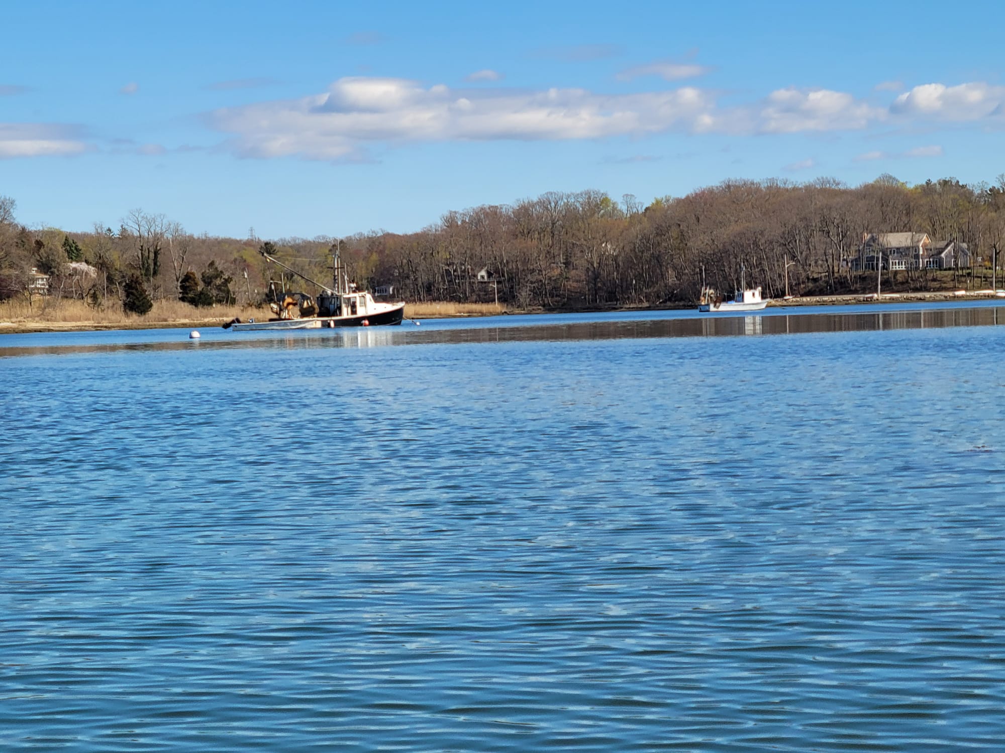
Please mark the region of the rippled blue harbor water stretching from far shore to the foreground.
<svg viewBox="0 0 1005 753"><path fill-rule="evenodd" d="M1000 750L999 324L0 337L0 750Z"/></svg>

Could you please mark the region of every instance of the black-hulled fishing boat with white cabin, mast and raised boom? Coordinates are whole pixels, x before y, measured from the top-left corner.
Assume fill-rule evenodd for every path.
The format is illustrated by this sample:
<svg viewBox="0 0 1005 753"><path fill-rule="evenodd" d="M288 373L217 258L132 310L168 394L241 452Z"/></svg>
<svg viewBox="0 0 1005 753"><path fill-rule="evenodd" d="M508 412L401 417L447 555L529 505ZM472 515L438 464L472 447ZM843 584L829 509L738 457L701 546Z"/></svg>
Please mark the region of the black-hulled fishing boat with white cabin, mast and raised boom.
<svg viewBox="0 0 1005 753"><path fill-rule="evenodd" d="M264 251L260 252L266 261L282 267L297 277L317 285L322 292L317 300L306 293L285 293L282 298L269 303L269 308L277 318L267 321L241 321L235 319L223 327L245 329L320 329L322 327L359 327L400 324L405 315L404 302L384 303L375 301L368 290L357 290L349 281L345 265L339 258L338 249L333 254L332 273L334 287L322 285L310 277L291 269Z"/></svg>

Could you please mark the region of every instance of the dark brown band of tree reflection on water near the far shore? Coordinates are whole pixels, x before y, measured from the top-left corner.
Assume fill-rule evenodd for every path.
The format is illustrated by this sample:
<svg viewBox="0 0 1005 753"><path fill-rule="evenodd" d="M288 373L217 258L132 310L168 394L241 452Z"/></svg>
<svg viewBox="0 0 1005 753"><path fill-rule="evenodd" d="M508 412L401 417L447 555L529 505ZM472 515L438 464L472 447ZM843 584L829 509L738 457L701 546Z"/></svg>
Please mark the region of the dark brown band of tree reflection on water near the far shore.
<svg viewBox="0 0 1005 753"><path fill-rule="evenodd" d="M290 332L214 332L202 340L184 338L160 342L100 342L60 345L3 347L0 357L123 350L184 350L320 347L381 347L464 342L511 342L541 340L600 340L652 337L736 337L742 335L802 334L809 332L849 332L886 329L929 329L959 326L993 326L1005 323L1005 308L974 307L900 311L833 312L812 314L772 314L748 316L706 316L690 318L625 319L574 321L521 326L477 326L451 322L448 326L417 328L371 327L360 329L318 329ZM465 324L467 324L465 326ZM80 333L85 337L90 333Z"/></svg>

